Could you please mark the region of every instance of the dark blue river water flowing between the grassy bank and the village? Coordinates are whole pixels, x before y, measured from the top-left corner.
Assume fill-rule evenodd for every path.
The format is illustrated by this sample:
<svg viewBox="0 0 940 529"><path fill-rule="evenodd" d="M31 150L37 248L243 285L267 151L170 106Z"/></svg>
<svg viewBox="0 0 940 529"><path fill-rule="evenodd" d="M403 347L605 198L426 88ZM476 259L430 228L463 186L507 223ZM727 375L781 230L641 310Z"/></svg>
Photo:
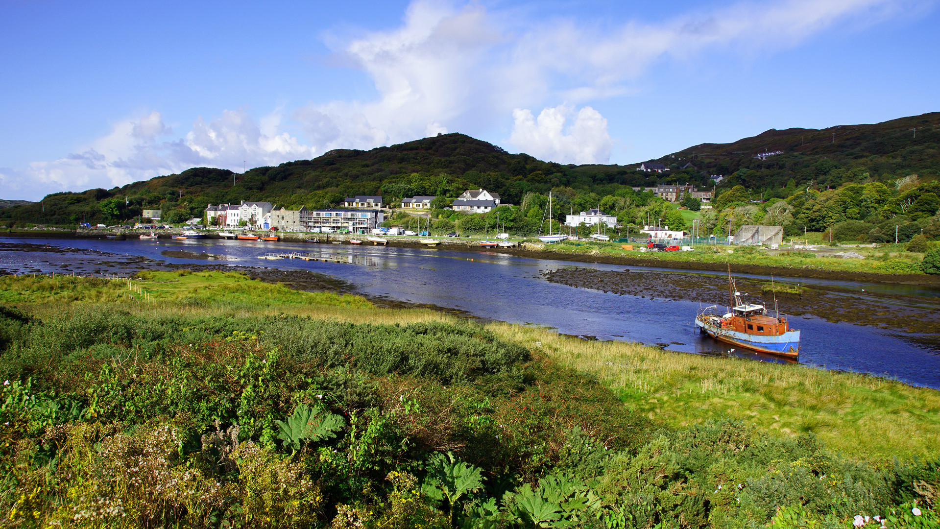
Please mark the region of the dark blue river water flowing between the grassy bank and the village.
<svg viewBox="0 0 940 529"><path fill-rule="evenodd" d="M266 253L309 253L329 259L267 260ZM183 258L205 254L205 258ZM183 257L180 257L183 256ZM334 262L339 260L340 262ZM613 293L605 288L576 288L547 279L547 272L566 268L587 271L635 272L634 286L642 286L644 272L675 274L683 285L697 281L714 283L715 272L671 271L622 265L572 263L550 259L513 257L489 252L413 249L349 244L294 242L246 242L219 240L29 240L0 238L0 273L75 272L121 273L165 264L217 264L307 270L327 274L355 286L372 299L427 303L459 309L480 319L495 319L556 328L559 333L602 340L659 345L668 350L698 354L730 354L762 362L787 362L770 355L733 350L693 325L700 306L721 304L724 299L695 300L694 295L657 297L641 290ZM652 277L647 275L646 277ZM740 274L743 279L764 279ZM769 280L770 278L766 278ZM885 313L916 306L925 314L940 312L940 291L931 288L890 286L822 279L776 278L792 284L812 283L836 288L838 295L855 296L866 303L884 303ZM695 288L692 288L694 290ZM635 295L640 294L640 295ZM882 301L878 295L886 296ZM888 298L887 296L890 296ZM727 294L725 295L727 298ZM848 299L851 306L854 298ZM899 329L820 318L813 314L791 316L791 327L801 334L799 362L808 367L842 369L895 378L940 389L940 336Z"/></svg>

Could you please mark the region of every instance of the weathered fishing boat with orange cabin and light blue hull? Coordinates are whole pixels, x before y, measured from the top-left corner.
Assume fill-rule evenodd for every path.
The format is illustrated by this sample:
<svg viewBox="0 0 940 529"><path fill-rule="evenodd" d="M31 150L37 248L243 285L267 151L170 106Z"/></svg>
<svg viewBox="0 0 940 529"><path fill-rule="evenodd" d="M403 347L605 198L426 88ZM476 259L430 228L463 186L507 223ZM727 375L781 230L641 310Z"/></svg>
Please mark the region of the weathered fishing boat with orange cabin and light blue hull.
<svg viewBox="0 0 940 529"><path fill-rule="evenodd" d="M696 315L698 332L746 349L787 358L798 357L800 331L791 329L787 319L776 310L776 299L774 311L768 311L762 304L744 303L730 269L728 282L729 312L719 311L717 305L699 310Z"/></svg>

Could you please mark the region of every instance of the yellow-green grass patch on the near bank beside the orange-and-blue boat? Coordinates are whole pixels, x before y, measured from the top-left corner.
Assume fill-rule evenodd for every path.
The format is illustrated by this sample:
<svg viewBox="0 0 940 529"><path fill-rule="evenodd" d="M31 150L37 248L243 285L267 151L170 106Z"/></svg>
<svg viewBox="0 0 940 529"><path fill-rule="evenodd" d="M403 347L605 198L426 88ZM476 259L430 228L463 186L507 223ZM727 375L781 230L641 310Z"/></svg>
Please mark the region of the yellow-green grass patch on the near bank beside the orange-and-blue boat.
<svg viewBox="0 0 940 529"><path fill-rule="evenodd" d="M940 392L878 377L584 341L519 325L490 330L593 374L636 411L682 428L742 420L865 459L940 454Z"/></svg>

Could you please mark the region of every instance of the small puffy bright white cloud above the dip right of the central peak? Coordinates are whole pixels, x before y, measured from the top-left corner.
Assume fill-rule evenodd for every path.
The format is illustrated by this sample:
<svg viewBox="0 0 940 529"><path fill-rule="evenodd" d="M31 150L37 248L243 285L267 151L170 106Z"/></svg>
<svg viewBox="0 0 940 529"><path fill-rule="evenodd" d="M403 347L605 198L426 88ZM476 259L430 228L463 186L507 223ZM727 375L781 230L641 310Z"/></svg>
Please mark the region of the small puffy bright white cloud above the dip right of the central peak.
<svg viewBox="0 0 940 529"><path fill-rule="evenodd" d="M573 123L565 127L573 114L572 106L559 105L543 109L537 119L531 111L517 108L512 111L515 125L509 141L540 160L607 163L613 147L607 120L600 112L586 106L577 112Z"/></svg>

